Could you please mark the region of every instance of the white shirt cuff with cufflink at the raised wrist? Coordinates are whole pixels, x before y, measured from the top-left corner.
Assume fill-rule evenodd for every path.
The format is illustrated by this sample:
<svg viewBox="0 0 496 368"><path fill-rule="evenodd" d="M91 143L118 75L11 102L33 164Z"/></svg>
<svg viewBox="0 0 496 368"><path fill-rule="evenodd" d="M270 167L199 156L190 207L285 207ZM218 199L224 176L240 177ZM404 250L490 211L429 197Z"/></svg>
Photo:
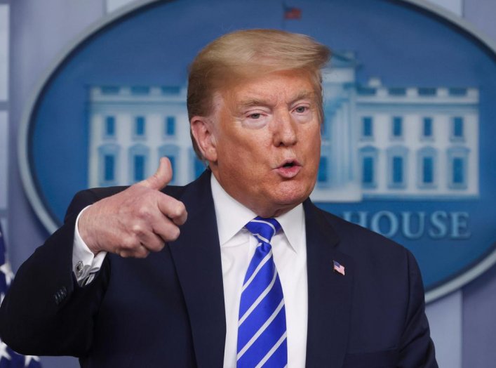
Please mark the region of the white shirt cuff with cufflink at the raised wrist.
<svg viewBox="0 0 496 368"><path fill-rule="evenodd" d="M102 267L103 260L107 255L106 251L100 251L96 256L88 248L83 238L79 234L78 224L81 213L89 206L86 206L76 218L74 227L74 242L72 243L72 270L76 275L79 286L84 286L93 281L95 273Z"/></svg>

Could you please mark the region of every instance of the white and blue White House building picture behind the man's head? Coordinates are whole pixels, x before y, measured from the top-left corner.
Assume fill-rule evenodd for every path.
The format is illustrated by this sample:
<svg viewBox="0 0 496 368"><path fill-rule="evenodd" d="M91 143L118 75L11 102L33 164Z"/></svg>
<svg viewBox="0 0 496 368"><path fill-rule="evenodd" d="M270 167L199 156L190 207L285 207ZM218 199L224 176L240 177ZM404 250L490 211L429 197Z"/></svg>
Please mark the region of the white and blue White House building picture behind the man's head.
<svg viewBox="0 0 496 368"><path fill-rule="evenodd" d="M335 56L323 72L319 177L312 199L478 197L478 88L356 82L356 59ZM189 138L186 86L91 86L88 185L127 185L162 156L172 184L205 166Z"/></svg>

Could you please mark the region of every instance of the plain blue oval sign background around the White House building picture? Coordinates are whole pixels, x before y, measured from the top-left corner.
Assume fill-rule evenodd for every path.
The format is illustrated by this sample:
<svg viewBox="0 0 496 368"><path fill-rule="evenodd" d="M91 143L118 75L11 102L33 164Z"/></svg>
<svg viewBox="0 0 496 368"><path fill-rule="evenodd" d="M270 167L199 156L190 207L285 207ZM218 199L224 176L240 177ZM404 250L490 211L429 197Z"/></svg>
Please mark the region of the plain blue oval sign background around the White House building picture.
<svg viewBox="0 0 496 368"><path fill-rule="evenodd" d="M27 149L39 197L61 223L74 193L88 185L88 86L184 85L187 65L209 41L242 28L309 34L337 51L354 51L356 79L380 75L387 86L474 86L480 91L479 197L440 201L320 203L344 211L465 211L467 239L422 235L397 242L420 263L433 289L490 253L495 243L495 55L438 15L399 1L292 1L300 20L284 20L280 1L161 1L102 27L77 46L48 79L29 119Z"/></svg>

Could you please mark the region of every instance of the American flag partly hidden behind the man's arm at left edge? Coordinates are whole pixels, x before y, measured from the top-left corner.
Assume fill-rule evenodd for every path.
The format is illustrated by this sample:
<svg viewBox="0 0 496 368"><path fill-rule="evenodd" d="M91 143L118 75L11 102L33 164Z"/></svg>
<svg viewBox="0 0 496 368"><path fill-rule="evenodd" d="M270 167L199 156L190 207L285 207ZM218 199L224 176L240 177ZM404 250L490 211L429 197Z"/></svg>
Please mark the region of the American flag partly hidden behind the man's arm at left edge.
<svg viewBox="0 0 496 368"><path fill-rule="evenodd" d="M11 286L14 274L11 265L7 261L5 251L4 233L0 223L0 304L4 301L4 296ZM0 368L41 368L39 357L33 355L20 355L9 348L0 339Z"/></svg>

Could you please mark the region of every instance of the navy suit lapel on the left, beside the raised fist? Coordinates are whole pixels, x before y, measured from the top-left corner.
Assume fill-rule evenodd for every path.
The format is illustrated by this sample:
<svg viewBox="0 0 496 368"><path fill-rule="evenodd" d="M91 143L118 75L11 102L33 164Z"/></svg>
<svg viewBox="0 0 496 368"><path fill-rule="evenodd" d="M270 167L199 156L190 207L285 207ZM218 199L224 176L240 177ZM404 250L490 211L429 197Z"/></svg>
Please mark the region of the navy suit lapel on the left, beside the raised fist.
<svg viewBox="0 0 496 368"><path fill-rule="evenodd" d="M222 367L225 345L224 289L210 175L185 188L179 199L188 219L169 244L191 322L198 367Z"/></svg>

